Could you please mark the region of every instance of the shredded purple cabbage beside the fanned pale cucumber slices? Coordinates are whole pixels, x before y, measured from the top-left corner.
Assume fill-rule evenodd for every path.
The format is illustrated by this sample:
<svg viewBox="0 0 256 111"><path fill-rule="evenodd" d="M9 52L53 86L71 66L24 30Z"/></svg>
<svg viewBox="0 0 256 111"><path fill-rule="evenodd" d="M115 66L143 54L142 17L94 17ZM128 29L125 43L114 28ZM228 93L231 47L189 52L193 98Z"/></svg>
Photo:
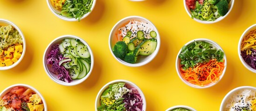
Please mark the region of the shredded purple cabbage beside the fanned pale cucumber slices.
<svg viewBox="0 0 256 111"><path fill-rule="evenodd" d="M52 65L53 73L58 75L58 79L71 82L73 81L69 76L69 71L63 66L59 66L59 62L63 59L63 55L60 54L59 44L52 46L52 50L47 56L47 64Z"/></svg>

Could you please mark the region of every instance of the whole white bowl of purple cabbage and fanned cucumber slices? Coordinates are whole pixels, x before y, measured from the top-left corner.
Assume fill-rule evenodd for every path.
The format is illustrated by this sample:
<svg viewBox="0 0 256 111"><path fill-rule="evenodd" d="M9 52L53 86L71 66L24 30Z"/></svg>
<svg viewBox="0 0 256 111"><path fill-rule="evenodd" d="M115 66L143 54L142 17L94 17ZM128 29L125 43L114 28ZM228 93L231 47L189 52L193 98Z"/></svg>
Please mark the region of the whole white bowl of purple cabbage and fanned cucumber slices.
<svg viewBox="0 0 256 111"><path fill-rule="evenodd" d="M55 38L43 55L46 74L64 86L82 83L90 76L93 65L94 56L89 44L73 35Z"/></svg>

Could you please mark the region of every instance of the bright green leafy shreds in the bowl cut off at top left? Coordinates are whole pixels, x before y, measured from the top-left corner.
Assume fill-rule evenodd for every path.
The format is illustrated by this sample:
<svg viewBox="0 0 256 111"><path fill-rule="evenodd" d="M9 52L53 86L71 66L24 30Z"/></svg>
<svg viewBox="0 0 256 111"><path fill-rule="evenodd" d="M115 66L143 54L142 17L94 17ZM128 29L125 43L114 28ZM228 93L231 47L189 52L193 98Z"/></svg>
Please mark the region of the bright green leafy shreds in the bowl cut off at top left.
<svg viewBox="0 0 256 111"><path fill-rule="evenodd" d="M92 3L93 0L66 0L60 15L80 21L84 14L91 12Z"/></svg>

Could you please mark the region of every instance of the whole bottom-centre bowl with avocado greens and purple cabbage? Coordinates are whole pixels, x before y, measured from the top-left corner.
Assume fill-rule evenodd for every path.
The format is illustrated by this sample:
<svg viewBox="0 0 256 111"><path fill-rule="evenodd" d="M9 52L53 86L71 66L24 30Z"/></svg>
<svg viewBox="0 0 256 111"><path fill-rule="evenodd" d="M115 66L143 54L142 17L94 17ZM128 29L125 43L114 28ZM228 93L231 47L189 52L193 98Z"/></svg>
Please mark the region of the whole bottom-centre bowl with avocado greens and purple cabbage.
<svg viewBox="0 0 256 111"><path fill-rule="evenodd" d="M128 80L113 80L97 94L95 111L146 111L146 100L140 88ZM107 110L106 110L107 111Z"/></svg>

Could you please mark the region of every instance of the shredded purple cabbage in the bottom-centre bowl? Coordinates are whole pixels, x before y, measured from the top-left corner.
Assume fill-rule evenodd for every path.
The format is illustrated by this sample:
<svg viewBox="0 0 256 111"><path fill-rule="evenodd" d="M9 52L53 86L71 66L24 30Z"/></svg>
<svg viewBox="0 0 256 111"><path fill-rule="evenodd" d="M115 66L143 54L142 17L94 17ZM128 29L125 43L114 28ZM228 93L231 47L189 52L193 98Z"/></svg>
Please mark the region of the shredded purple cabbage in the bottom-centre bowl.
<svg viewBox="0 0 256 111"><path fill-rule="evenodd" d="M142 98L138 94L138 90L135 88L130 88L132 90L131 93L126 93L123 98L125 103L126 111L142 111Z"/></svg>

